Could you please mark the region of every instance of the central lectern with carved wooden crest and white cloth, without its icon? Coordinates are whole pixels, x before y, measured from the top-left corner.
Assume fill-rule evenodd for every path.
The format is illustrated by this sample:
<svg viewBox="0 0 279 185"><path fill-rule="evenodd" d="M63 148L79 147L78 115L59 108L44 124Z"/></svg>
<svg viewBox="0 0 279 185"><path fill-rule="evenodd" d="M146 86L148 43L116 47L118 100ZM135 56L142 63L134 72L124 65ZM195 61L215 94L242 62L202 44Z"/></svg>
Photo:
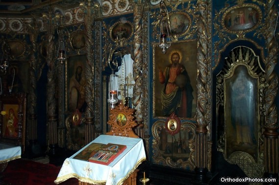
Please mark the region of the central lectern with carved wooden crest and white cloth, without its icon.
<svg viewBox="0 0 279 185"><path fill-rule="evenodd" d="M143 140L133 131L134 109L120 103L110 111L111 131L100 135L77 153L67 158L58 174L55 184L70 178L77 178L79 185L136 185L137 167L146 160ZM92 143L115 143L127 148L108 165L74 159Z"/></svg>

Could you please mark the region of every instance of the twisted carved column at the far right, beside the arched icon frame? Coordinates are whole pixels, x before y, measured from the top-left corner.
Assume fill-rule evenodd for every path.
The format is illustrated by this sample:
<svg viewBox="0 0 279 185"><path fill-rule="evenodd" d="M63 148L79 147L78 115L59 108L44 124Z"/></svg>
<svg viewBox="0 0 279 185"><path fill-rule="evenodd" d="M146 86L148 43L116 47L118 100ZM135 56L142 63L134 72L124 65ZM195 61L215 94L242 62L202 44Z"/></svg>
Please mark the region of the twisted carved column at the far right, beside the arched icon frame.
<svg viewBox="0 0 279 185"><path fill-rule="evenodd" d="M266 18L266 48L267 54L265 74L267 87L264 91L266 102L266 121L264 124L264 166L265 177L273 177L278 180L278 113L275 105L275 97L278 92L278 76L274 70L278 61L278 43L275 38L278 9L276 0L267 0Z"/></svg>

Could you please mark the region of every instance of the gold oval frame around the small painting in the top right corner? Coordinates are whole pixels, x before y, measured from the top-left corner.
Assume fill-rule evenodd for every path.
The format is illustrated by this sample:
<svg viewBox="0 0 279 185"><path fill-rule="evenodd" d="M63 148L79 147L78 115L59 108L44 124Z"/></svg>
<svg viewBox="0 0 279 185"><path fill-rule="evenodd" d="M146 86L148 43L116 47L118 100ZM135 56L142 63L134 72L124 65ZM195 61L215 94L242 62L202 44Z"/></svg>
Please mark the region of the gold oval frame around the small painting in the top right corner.
<svg viewBox="0 0 279 185"><path fill-rule="evenodd" d="M241 29L241 30L235 30L235 31L232 31L232 30L228 29L228 28L226 27L226 25L225 25L225 18L226 18L226 16L227 16L231 11L233 11L233 10L235 10L235 9L238 9L238 8L244 8L244 7L253 8L253 9L255 9L255 10L257 11L258 16L259 16L259 17L258 17L258 22L257 22L253 27L251 27L251 28L249 28L249 29ZM231 8L229 8L228 10L225 11L225 13L223 14L222 19L221 19L221 24L222 24L223 28L224 28L227 32L229 32L229 33L239 33L239 32L245 33L245 32L249 32L249 31L254 30L254 29L261 23L261 19L262 19L262 12L261 12L260 8L259 8L257 5L251 4L251 3L237 4L237 5L232 6Z"/></svg>

